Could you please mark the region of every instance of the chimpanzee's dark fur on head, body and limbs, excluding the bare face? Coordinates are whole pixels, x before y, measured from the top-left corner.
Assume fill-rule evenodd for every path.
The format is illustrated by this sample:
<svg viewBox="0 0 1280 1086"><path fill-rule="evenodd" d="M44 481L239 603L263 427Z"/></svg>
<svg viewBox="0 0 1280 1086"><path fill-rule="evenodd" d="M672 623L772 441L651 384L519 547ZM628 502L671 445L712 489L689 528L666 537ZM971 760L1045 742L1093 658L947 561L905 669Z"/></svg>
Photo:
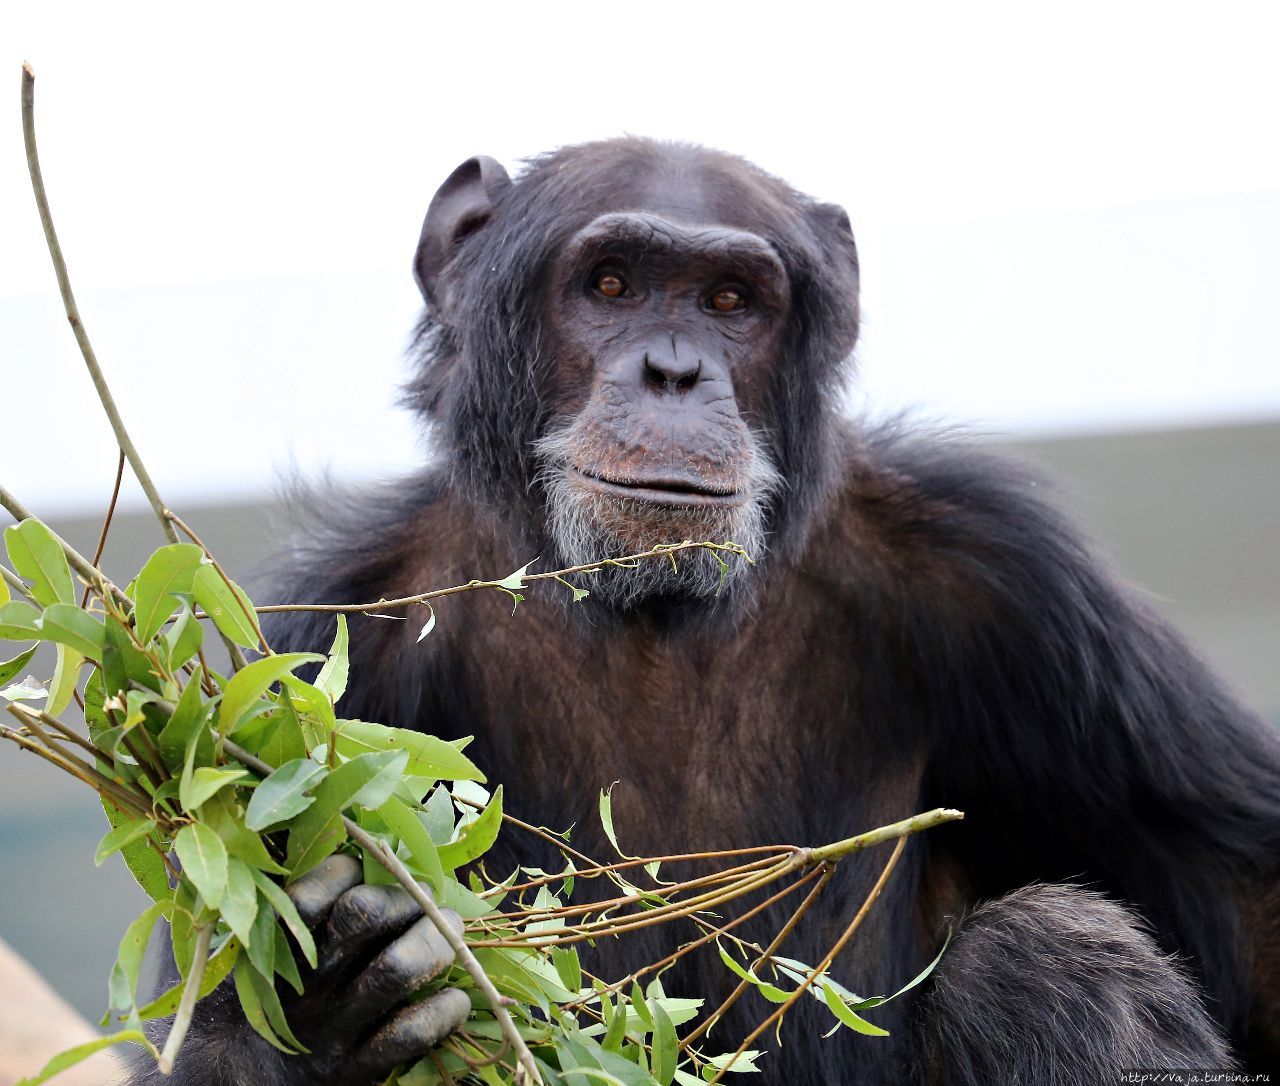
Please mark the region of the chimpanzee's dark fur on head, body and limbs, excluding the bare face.
<svg viewBox="0 0 1280 1086"><path fill-rule="evenodd" d="M435 243L444 266L419 269L452 300L421 325L408 391L438 466L346 503L312 499L275 602L392 598L554 555L531 446L585 409L554 391L566 360L549 269L611 210L751 229L787 269L782 346L749 419L785 484L769 551L745 590L713 603L620 611L556 589L512 617L495 597L454 597L421 644L425 615L353 617L342 715L474 734L513 813L576 823L575 844L598 854L594 791L614 779L635 853L818 844L963 808L964 823L908 845L836 968L856 991L892 991L991 902L960 925L937 981L868 1012L888 1039L820 1040L829 1016L806 1000L767 1081L1263 1069L1277 1041L1277 735L1102 570L1030 473L840 416L858 328L842 213L739 159L646 141L568 149L474 195L489 218L468 218L452 250ZM279 651L323 649L333 621L273 616L268 633ZM493 870L517 859L550 862L504 835ZM788 954L822 957L879 859L841 864ZM1025 889L1066 882L1091 889ZM682 935L602 946L595 968L660 957ZM712 999L732 982L714 953L668 980ZM732 1048L767 1009L744 1000L710 1046Z"/></svg>

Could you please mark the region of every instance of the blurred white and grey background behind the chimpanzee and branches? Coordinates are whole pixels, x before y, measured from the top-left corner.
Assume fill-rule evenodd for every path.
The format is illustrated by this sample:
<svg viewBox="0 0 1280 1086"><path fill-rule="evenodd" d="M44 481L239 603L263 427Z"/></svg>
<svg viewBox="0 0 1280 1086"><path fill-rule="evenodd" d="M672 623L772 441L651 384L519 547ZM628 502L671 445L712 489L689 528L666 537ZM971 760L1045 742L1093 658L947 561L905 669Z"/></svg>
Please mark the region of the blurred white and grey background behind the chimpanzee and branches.
<svg viewBox="0 0 1280 1086"><path fill-rule="evenodd" d="M855 410L1039 461L1277 717L1277 23L1262 3L4 5L0 480L92 551L115 450L28 190L23 59L125 420L250 583L283 474L358 484L422 456L394 400L449 170L691 140L849 209ZM108 571L124 583L159 542L127 485ZM102 832L87 789L0 749L0 936L95 1019L145 904L116 858L92 867Z"/></svg>

